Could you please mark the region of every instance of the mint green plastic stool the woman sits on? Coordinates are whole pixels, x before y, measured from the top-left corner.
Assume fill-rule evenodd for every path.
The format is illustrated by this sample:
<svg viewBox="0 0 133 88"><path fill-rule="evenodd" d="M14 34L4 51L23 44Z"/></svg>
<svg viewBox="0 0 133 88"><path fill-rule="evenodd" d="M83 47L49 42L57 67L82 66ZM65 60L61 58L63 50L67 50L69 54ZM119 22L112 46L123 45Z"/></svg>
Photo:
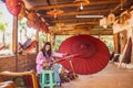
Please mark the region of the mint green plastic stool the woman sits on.
<svg viewBox="0 0 133 88"><path fill-rule="evenodd" d="M40 86L41 88L53 88L55 86L54 72L53 70L42 70L40 74Z"/></svg>

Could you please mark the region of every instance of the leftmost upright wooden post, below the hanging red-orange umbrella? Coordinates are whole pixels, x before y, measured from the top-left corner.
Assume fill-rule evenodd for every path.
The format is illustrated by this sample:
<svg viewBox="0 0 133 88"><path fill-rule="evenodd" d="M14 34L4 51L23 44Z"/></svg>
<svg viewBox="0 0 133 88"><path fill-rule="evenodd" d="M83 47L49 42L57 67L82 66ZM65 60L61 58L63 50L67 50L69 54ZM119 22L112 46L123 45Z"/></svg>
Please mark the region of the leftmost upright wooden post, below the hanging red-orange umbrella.
<svg viewBox="0 0 133 88"><path fill-rule="evenodd" d="M16 72L18 72L18 16L13 16L12 52L16 55Z"/></svg>

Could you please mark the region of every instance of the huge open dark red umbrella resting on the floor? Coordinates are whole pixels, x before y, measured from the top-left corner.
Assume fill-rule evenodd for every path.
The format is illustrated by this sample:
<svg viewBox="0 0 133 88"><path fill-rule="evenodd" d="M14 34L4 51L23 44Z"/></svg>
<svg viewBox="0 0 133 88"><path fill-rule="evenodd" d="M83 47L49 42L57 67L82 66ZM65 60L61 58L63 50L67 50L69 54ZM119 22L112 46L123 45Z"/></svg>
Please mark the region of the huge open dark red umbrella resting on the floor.
<svg viewBox="0 0 133 88"><path fill-rule="evenodd" d="M100 72L110 58L105 44L90 35L78 35L65 40L60 45L59 52L70 54L70 62L61 62L63 67L81 75Z"/></svg>

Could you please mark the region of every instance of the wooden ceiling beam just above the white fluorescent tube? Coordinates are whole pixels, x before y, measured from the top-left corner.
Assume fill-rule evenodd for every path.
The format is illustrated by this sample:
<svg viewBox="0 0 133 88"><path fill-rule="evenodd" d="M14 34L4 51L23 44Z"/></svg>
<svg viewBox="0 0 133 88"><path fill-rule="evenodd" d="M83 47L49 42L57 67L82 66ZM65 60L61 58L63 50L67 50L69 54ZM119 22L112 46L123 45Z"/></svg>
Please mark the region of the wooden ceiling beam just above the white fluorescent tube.
<svg viewBox="0 0 133 88"><path fill-rule="evenodd" d="M66 15L76 15L76 14L90 14L90 13L100 13L100 12L109 12L111 9L104 9L104 10L93 10L93 11L80 11L80 12L66 12L62 13L58 16L66 16ZM50 18L53 15L42 15L43 18Z"/></svg>

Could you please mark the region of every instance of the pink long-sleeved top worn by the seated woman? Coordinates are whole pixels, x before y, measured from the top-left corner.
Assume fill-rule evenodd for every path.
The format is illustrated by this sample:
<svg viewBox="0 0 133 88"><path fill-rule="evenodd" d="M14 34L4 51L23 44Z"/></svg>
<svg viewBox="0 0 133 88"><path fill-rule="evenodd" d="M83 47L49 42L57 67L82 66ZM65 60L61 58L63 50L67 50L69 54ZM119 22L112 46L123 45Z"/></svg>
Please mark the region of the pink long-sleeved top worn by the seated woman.
<svg viewBox="0 0 133 88"><path fill-rule="evenodd" d="M52 57L63 57L63 54L61 53L52 53L50 59ZM37 74L40 74L40 72L42 70L43 68L43 62L47 61L47 58L43 56L43 53L40 51L38 56L37 56Z"/></svg>

